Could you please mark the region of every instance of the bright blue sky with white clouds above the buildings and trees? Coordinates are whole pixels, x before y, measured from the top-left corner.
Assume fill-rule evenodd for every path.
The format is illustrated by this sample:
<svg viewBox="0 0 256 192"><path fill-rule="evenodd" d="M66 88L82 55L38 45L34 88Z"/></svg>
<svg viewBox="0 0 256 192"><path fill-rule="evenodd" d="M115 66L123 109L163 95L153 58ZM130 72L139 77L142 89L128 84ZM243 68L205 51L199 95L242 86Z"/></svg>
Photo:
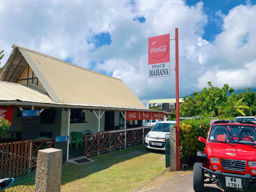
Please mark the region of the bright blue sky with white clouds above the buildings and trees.
<svg viewBox="0 0 256 192"><path fill-rule="evenodd" d="M0 1L0 50L13 44L120 78L145 104L175 98L170 77L148 79L148 38L179 29L180 96L229 84L256 88L256 0ZM19 19L17 19L19 18ZM32 25L33 24L33 25ZM175 65L170 42L170 68Z"/></svg>

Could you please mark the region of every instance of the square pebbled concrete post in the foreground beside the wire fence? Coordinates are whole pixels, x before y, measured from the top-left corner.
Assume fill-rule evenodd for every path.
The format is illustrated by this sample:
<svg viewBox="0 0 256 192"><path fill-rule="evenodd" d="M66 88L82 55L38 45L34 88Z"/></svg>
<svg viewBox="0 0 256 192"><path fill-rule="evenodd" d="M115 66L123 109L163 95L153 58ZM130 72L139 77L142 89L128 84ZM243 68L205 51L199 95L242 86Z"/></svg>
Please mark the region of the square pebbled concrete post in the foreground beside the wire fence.
<svg viewBox="0 0 256 192"><path fill-rule="evenodd" d="M49 148L37 153L35 192L60 192L62 150Z"/></svg>

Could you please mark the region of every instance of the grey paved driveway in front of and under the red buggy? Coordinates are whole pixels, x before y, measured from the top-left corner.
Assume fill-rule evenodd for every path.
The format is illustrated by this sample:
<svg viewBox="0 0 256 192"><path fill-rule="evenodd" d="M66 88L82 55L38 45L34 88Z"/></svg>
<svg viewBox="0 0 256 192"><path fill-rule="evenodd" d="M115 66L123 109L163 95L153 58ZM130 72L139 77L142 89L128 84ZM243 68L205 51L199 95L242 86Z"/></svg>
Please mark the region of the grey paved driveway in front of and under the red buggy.
<svg viewBox="0 0 256 192"><path fill-rule="evenodd" d="M176 175L177 174L177 175ZM194 192L193 173L187 172L166 172L162 176L148 183L136 192ZM222 192L216 184L205 184L204 192Z"/></svg>

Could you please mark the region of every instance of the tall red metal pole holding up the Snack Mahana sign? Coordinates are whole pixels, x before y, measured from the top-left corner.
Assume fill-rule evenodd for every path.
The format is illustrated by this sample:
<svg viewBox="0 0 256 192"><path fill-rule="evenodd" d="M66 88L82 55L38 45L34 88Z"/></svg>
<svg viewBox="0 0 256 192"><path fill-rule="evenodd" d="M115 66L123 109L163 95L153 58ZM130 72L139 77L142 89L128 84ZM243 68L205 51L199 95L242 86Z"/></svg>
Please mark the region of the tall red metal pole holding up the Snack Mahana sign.
<svg viewBox="0 0 256 192"><path fill-rule="evenodd" d="M177 170L180 170L179 153L179 44L178 28L175 28L175 73L176 73L176 147L177 147Z"/></svg>

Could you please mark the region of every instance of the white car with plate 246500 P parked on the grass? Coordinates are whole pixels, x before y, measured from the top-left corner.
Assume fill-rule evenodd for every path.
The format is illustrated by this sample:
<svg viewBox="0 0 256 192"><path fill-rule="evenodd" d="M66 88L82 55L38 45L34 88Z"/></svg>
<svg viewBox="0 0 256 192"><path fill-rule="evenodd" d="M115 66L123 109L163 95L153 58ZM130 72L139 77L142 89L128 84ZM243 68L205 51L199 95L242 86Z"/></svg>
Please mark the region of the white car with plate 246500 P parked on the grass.
<svg viewBox="0 0 256 192"><path fill-rule="evenodd" d="M161 121L155 124L145 138L146 150L156 149L165 150L165 135L170 133L170 128L176 124L176 121ZM170 138L167 135L166 138Z"/></svg>

